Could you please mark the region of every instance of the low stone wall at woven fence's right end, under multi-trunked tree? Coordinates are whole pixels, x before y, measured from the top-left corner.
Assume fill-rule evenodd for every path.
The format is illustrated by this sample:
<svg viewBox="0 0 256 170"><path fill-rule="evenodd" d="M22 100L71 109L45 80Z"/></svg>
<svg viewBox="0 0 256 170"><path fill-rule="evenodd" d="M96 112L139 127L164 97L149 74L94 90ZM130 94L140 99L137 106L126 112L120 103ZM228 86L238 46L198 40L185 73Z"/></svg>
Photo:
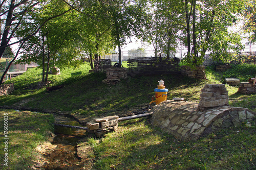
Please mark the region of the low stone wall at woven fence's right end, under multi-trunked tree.
<svg viewBox="0 0 256 170"><path fill-rule="evenodd" d="M193 69L189 66L182 65L181 74L189 78L206 79L204 66L199 66Z"/></svg>

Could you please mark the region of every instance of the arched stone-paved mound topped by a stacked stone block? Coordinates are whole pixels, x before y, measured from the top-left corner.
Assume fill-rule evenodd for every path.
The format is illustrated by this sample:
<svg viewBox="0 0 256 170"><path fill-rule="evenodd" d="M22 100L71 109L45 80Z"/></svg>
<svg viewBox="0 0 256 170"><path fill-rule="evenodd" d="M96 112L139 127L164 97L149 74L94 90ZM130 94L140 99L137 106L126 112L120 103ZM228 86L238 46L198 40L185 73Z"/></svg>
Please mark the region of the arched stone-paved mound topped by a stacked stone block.
<svg viewBox="0 0 256 170"><path fill-rule="evenodd" d="M246 122L247 126L250 126L249 122L256 117L256 113L247 108L228 106L228 100L222 96L227 95L225 88L223 85L218 86L222 89L216 92L219 97L211 93L215 92L215 89L210 90L210 88L217 88L216 85L205 85L202 93L206 92L206 94L201 95L201 98L207 96L206 101L210 99L223 100L212 103L215 105L212 105L214 107L210 107L211 105L206 102L204 105L201 104L201 109L198 109L199 104L197 103L164 101L150 110L150 112L154 112L151 117L151 124L182 140L197 140L211 132L230 126L240 126ZM217 106L217 104L221 106Z"/></svg>

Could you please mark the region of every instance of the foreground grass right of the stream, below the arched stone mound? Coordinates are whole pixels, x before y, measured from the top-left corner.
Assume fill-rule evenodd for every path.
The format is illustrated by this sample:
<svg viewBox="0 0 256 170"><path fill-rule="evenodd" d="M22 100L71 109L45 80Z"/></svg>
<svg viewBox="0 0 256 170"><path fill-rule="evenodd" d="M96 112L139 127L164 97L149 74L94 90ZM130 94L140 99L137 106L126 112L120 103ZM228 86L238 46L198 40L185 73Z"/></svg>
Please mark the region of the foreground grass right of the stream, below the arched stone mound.
<svg viewBox="0 0 256 170"><path fill-rule="evenodd" d="M185 142L141 118L119 123L98 144L89 141L96 169L254 169L255 130L234 127Z"/></svg>

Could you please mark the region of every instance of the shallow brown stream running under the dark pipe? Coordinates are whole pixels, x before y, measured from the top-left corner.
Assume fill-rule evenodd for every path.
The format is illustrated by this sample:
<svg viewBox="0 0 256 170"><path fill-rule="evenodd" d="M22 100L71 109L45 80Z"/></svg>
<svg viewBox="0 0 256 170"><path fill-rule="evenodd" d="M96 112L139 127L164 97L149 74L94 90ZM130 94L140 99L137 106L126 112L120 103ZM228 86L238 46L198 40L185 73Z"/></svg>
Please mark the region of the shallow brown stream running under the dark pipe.
<svg viewBox="0 0 256 170"><path fill-rule="evenodd" d="M56 124L80 126L74 119L62 115L54 115ZM52 144L56 148L45 156L44 169L82 169L83 163L77 156L76 145L87 135L86 130L55 126Z"/></svg>

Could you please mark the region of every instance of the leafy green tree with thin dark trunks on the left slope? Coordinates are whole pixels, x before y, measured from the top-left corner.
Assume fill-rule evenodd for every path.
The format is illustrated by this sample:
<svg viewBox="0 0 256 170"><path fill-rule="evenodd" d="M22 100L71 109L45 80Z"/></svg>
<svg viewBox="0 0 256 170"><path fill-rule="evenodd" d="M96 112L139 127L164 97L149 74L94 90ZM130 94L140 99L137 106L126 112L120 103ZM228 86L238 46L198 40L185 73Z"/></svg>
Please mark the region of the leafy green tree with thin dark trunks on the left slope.
<svg viewBox="0 0 256 170"><path fill-rule="evenodd" d="M44 8L47 10L36 13L34 16L32 15L35 22L40 22L49 15L55 15L70 9L66 3L61 1L51 1ZM69 66L69 62L77 57L76 51L78 51L78 48L70 44L73 42L77 31L77 23L74 20L76 17L75 11L69 11L58 18L51 19L40 28L38 34L35 34L25 43L23 48L26 51L24 51L21 61L40 63L42 81L48 81L48 73L51 66L55 64ZM19 36L26 36L26 28L33 27L31 23L24 26L24 30L18 32Z"/></svg>

